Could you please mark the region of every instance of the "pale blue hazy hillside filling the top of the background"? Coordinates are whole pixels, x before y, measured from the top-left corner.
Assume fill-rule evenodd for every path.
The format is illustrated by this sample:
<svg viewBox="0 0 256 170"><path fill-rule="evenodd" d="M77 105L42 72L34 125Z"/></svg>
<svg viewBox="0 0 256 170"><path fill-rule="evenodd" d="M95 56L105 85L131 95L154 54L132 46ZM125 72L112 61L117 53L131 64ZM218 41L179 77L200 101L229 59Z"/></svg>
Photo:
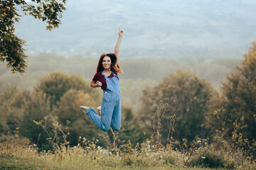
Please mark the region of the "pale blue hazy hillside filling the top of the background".
<svg viewBox="0 0 256 170"><path fill-rule="evenodd" d="M124 27L123 57L241 57L256 39L256 1L68 0L60 28L31 16L16 24L27 53L98 57L111 52Z"/></svg>

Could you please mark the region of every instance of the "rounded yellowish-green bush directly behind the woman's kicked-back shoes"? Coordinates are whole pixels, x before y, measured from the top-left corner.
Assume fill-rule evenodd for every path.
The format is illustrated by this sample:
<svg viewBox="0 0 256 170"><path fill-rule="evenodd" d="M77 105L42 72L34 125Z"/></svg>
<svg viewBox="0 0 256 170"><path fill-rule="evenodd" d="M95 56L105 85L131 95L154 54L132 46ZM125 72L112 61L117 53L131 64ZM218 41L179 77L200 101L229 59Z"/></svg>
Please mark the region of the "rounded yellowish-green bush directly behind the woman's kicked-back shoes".
<svg viewBox="0 0 256 170"><path fill-rule="evenodd" d="M80 136L92 140L100 132L89 116L79 108L85 101L87 106L95 108L96 103L89 94L70 89L60 98L60 101L57 102L53 109L53 115L58 116L58 121L63 125L63 128L68 128L69 135L67 140L71 146L78 145Z"/></svg>

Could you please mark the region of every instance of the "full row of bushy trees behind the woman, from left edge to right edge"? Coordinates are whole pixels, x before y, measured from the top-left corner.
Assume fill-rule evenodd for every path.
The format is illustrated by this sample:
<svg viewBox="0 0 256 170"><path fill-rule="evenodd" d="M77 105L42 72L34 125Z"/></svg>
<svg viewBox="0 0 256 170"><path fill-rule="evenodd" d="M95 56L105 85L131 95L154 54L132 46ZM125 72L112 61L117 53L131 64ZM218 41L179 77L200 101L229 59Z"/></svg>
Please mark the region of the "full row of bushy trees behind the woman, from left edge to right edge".
<svg viewBox="0 0 256 170"><path fill-rule="evenodd" d="M150 70L147 62L142 62L142 65L135 62L128 65L135 63L136 67ZM253 42L238 69L228 74L220 91L189 70L169 74L159 84L149 82L151 86L144 88L139 99L142 103L139 111L122 105L119 138L131 140L132 145L136 145L152 135L159 145L178 146L192 142L197 136L208 137L211 142L221 137L226 143L250 150L248 154L255 156L255 68L256 42ZM134 91L138 86L133 84ZM42 149L50 149L49 135L44 128L53 134L53 123L59 123L66 130L71 146L77 145L80 136L85 136L90 140L100 139L99 144L107 147L107 142L98 136L102 132L79 108L85 103L100 106L98 90L90 88L89 82L78 74L63 72L50 72L30 91L9 86L0 95L1 140L5 140L6 132L14 134L19 128L23 137ZM125 96L123 98L125 100ZM159 105L160 101L162 104ZM44 120L47 127L46 124L43 127L36 125L33 120ZM107 133L111 135L111 132Z"/></svg>

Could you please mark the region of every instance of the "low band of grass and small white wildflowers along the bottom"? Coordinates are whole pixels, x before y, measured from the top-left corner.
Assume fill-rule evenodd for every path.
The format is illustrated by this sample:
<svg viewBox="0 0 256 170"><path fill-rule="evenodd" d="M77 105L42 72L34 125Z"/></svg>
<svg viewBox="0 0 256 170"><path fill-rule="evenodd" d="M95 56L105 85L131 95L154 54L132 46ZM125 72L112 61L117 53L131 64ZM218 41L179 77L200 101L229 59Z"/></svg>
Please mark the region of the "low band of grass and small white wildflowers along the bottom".
<svg viewBox="0 0 256 170"><path fill-rule="evenodd" d="M190 157L173 149L156 149L149 141L138 149L105 149L90 142L76 147L60 147L38 152L35 145L0 143L0 169L255 169L255 162L215 152L210 147ZM8 146L8 147L7 147ZM203 152L202 152L203 151ZM188 164L186 164L186 161Z"/></svg>

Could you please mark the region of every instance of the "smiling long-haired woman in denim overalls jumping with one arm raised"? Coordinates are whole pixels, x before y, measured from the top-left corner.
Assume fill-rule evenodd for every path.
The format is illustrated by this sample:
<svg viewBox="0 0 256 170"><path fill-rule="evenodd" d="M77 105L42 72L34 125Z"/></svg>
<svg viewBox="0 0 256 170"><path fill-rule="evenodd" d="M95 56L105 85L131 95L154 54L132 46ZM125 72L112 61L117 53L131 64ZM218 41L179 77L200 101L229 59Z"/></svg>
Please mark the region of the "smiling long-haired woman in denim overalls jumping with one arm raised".
<svg viewBox="0 0 256 170"><path fill-rule="evenodd" d="M97 115L93 108L80 106L82 111L104 132L109 130L110 127L112 130L119 130L121 126L121 97L117 73L122 73L118 62L118 53L123 34L124 31L119 29L119 37L117 45L114 47L114 53L104 53L100 56L97 72L90 83L91 87L101 87L103 90L101 115Z"/></svg>

